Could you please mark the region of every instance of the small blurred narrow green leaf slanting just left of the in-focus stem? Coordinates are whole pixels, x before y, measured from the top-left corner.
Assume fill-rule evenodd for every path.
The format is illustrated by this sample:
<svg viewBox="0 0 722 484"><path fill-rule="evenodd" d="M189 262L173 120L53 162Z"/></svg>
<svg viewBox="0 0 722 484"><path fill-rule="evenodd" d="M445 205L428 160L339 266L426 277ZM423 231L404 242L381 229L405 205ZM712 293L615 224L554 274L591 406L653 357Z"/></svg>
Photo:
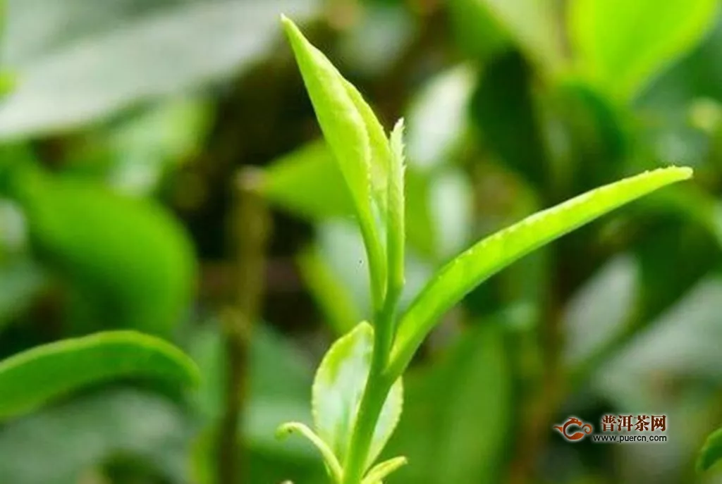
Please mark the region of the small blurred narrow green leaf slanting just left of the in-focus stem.
<svg viewBox="0 0 722 484"><path fill-rule="evenodd" d="M360 319L360 309L318 247L309 246L301 250L296 262L305 285L334 333L344 335L352 330Z"/></svg>

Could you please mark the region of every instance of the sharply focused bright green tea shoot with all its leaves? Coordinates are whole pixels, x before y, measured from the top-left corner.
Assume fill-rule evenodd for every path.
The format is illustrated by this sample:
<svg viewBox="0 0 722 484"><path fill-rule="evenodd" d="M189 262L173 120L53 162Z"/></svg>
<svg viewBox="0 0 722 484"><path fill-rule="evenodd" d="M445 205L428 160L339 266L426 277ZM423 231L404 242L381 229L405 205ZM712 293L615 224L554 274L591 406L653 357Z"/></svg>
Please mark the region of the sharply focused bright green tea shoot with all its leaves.
<svg viewBox="0 0 722 484"><path fill-rule="evenodd" d="M313 384L312 430L286 423L321 452L332 482L378 484L406 463L375 465L401 416L401 378L440 317L515 260L573 229L673 182L692 170L668 167L579 195L491 235L444 265L401 312L404 289L404 123L390 136L360 92L289 19L295 53L321 131L343 175L365 244L373 322L361 322L331 346Z"/></svg>

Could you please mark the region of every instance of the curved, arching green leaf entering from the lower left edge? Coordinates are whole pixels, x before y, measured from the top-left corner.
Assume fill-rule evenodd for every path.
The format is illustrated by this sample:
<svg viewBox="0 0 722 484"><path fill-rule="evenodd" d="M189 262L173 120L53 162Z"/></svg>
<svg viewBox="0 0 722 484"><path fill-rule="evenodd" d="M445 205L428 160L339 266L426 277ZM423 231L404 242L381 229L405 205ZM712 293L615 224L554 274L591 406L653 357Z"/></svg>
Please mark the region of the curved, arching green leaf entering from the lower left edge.
<svg viewBox="0 0 722 484"><path fill-rule="evenodd" d="M175 346L132 331L38 346L0 362L0 419L30 412L80 387L125 377L194 384L198 369Z"/></svg>

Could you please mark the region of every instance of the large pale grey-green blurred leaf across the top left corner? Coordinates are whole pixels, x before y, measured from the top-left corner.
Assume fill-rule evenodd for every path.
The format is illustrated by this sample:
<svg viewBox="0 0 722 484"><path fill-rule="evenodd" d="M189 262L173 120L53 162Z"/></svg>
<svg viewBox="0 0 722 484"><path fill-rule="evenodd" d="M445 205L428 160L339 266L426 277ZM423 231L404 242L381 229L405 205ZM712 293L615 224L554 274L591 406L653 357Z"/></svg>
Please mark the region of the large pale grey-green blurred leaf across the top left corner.
<svg viewBox="0 0 722 484"><path fill-rule="evenodd" d="M313 5L165 1L163 9L142 9L128 0L109 9L106 3L10 0L5 50L19 82L0 106L0 136L74 128L230 76L269 48L280 12L308 14ZM58 41L83 30L82 38Z"/></svg>

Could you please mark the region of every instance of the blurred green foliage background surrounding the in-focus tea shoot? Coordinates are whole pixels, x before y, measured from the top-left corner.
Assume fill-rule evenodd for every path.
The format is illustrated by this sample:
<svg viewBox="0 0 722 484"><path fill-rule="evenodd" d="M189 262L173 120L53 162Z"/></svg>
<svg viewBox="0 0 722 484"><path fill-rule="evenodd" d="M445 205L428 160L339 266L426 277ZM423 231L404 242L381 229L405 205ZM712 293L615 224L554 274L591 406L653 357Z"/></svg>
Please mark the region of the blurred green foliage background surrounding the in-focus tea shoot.
<svg viewBox="0 0 722 484"><path fill-rule="evenodd" d="M0 483L231 484L223 459L239 483L326 482L274 429L310 420L313 369L369 295L281 12L387 129L406 119L406 302L540 208L695 168L448 315L406 377L388 483L722 482L694 470L722 424L719 1L4 3L0 357L128 327L203 384L117 382L1 423ZM664 413L668 441L552 431L604 413Z"/></svg>

